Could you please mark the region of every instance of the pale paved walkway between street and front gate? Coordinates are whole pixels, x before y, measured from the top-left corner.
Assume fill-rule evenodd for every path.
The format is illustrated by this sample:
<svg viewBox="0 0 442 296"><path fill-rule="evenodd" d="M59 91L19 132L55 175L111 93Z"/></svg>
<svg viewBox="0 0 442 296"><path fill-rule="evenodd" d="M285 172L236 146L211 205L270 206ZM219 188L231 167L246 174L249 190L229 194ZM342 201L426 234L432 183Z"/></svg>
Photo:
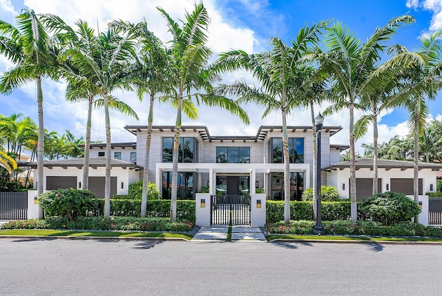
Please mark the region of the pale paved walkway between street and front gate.
<svg viewBox="0 0 442 296"><path fill-rule="evenodd" d="M227 241L228 225L202 227L192 241ZM232 226L232 241L266 241L260 228Z"/></svg>

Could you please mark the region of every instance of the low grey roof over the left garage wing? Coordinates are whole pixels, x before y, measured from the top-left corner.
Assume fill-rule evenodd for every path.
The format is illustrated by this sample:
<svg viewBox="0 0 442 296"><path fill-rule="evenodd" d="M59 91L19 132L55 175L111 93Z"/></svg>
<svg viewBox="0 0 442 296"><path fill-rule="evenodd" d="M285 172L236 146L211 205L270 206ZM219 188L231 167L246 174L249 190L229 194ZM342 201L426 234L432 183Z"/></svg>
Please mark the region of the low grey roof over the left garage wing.
<svg viewBox="0 0 442 296"><path fill-rule="evenodd" d="M52 168L52 167L78 167L81 169L84 164L84 158L70 158L70 159L59 159L59 160L45 160L44 167ZM37 167L37 162L33 163L20 163L21 167ZM129 163L128 161L118 160L115 158L111 158L112 167L122 167L122 168L130 168L130 169L143 169L140 165L135 165L134 163ZM89 158L89 167L106 167L106 157L91 157Z"/></svg>

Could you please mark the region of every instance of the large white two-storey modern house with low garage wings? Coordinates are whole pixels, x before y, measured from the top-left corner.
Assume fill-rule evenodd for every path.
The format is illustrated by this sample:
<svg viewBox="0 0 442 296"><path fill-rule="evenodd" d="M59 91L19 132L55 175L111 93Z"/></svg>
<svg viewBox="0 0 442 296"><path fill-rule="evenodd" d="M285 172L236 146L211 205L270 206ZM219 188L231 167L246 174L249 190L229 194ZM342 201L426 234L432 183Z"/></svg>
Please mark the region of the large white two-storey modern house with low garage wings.
<svg viewBox="0 0 442 296"><path fill-rule="evenodd" d="M126 126L136 142L112 144L112 194L127 194L128 184L142 179L147 126ZM149 156L149 180L156 183L163 198L170 198L172 183L173 126L153 127ZM300 200L313 181L312 127L287 127L291 172L291 200ZM321 181L349 196L349 162L339 162L348 145L330 144L341 127L323 127L321 132ZM104 196L105 144L90 145L90 189ZM32 164L36 166L36 164ZM83 158L44 162L44 189L81 188ZM357 198L372 192L372 159L356 161ZM412 190L413 163L378 160L379 192ZM436 171L442 165L419 164L419 194L436 191ZM211 194L253 194L264 188L269 200L284 199L282 127L262 126L256 136L211 136L205 126L183 126L180 132L178 198L194 199L202 187ZM35 179L36 180L36 179ZM410 187L411 186L411 187Z"/></svg>

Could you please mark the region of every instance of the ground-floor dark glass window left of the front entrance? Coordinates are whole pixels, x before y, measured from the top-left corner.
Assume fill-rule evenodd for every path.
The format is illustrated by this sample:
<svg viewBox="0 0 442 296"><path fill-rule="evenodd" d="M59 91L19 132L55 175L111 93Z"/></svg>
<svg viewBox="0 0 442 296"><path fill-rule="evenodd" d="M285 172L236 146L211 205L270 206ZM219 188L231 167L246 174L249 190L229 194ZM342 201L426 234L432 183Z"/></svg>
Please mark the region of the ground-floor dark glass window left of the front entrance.
<svg viewBox="0 0 442 296"><path fill-rule="evenodd" d="M177 199L195 199L193 196L194 173L178 172ZM163 172L163 199L171 199L172 172Z"/></svg>

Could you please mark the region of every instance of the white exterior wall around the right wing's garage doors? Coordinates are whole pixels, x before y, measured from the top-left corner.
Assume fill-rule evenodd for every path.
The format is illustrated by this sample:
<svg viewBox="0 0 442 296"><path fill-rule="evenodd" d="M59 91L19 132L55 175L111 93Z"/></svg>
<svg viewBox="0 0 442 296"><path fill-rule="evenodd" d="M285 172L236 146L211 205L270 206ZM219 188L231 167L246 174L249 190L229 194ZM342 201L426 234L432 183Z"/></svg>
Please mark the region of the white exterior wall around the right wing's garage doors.
<svg viewBox="0 0 442 296"><path fill-rule="evenodd" d="M338 188L340 198L349 198L349 176L349 168L327 172L327 184ZM373 178L373 171L370 169L358 169L356 171L356 178ZM401 169L378 169L378 178L382 180L382 192L386 192L387 184L390 186L391 178L413 178L413 169L405 169L403 171ZM436 191L436 172L431 169L421 169L419 171L419 178L423 179L423 194L430 192L430 184L433 185L433 191ZM345 190L343 190L343 184L345 184Z"/></svg>

